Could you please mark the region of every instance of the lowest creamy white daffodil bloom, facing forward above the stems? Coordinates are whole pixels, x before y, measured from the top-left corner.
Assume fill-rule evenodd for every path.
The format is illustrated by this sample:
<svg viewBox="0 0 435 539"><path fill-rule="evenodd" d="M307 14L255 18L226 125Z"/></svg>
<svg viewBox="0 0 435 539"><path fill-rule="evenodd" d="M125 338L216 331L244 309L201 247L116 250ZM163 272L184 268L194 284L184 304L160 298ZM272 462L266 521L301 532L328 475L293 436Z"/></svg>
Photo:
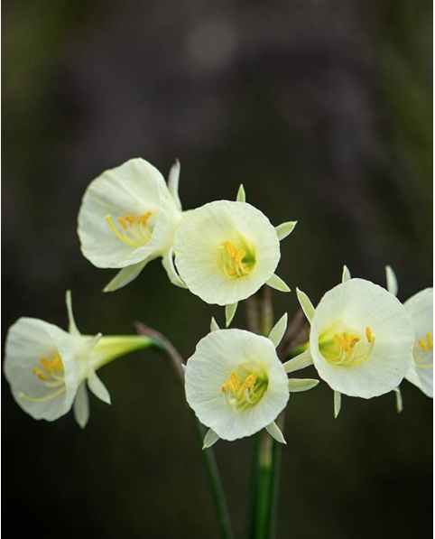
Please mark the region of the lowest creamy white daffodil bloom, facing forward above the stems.
<svg viewBox="0 0 435 539"><path fill-rule="evenodd" d="M264 428L285 442L274 420L289 399L288 378L271 339L216 329L199 341L185 379L188 403L210 428L205 447Z"/></svg>

